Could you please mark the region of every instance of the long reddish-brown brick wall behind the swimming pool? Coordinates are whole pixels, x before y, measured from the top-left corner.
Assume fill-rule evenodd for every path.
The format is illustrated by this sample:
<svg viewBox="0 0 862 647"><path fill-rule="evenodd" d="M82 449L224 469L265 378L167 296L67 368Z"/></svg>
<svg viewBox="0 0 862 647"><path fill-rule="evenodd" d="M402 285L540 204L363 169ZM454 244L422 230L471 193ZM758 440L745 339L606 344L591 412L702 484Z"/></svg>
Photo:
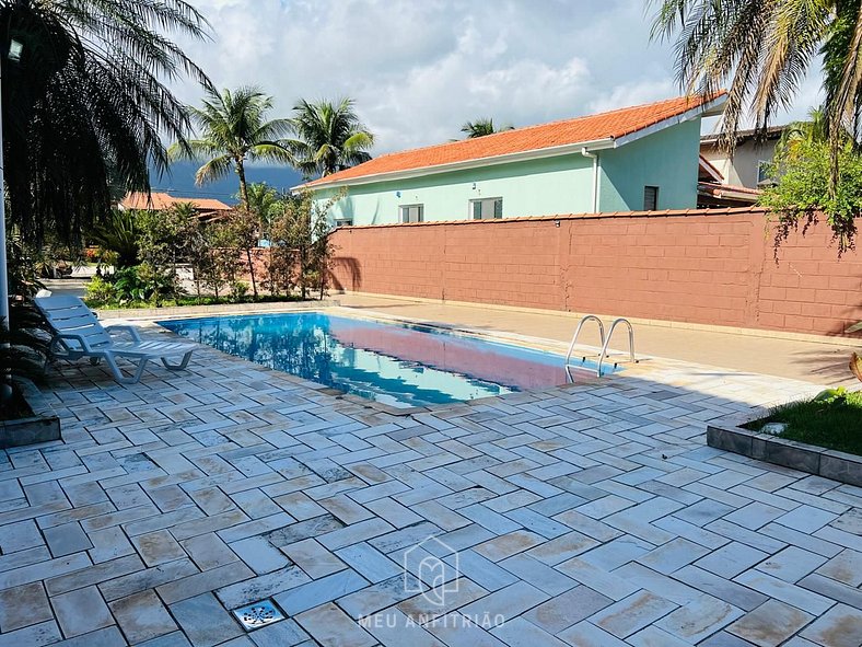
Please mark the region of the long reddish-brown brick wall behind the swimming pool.
<svg viewBox="0 0 862 647"><path fill-rule="evenodd" d="M825 335L862 321L862 254L752 210L339 229L335 287Z"/></svg>

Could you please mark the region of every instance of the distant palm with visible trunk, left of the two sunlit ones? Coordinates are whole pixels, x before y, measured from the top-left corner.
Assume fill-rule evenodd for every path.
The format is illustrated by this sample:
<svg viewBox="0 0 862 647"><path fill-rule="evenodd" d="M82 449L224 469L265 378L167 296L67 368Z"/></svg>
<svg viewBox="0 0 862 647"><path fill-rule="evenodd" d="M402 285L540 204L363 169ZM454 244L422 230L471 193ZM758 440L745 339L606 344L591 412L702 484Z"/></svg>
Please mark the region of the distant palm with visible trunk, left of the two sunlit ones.
<svg viewBox="0 0 862 647"><path fill-rule="evenodd" d="M248 208L248 185L245 180L247 161L291 163L282 137L290 129L288 119L267 120L272 97L258 88L244 86L221 93L206 89L202 108L189 108L201 139L188 146L179 143L170 149L174 160L207 160L195 174L198 186L224 177L233 169L240 177L240 199Z"/></svg>

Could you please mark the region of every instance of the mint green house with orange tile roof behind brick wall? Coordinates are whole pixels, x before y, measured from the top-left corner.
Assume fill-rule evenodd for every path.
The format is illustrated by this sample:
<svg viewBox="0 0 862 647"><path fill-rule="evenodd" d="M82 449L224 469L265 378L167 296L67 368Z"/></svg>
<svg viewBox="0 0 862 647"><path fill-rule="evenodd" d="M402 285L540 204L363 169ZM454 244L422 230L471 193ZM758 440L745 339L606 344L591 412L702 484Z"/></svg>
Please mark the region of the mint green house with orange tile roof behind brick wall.
<svg viewBox="0 0 862 647"><path fill-rule="evenodd" d="M697 206L700 119L679 97L374 158L306 185L339 226ZM301 188L301 187L296 187Z"/></svg>

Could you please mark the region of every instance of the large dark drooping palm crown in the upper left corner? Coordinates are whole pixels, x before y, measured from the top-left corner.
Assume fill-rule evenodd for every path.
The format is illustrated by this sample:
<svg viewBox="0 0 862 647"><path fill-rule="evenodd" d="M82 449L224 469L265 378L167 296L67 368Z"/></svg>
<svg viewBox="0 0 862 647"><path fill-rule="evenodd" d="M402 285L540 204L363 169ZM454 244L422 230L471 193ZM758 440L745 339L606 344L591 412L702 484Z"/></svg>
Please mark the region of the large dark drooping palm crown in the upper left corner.
<svg viewBox="0 0 862 647"><path fill-rule="evenodd" d="M170 36L207 30L183 0L0 0L9 215L25 239L77 242L112 184L150 189L163 136L185 147L190 129L161 79L209 82Z"/></svg>

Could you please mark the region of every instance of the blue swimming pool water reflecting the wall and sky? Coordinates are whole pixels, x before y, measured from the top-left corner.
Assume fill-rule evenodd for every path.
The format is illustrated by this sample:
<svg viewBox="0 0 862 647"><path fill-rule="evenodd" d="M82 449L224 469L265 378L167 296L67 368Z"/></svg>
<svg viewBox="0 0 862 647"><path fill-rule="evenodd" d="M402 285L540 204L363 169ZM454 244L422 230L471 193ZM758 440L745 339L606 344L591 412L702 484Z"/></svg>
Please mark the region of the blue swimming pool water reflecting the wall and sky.
<svg viewBox="0 0 862 647"><path fill-rule="evenodd" d="M430 327L317 312L160 324L223 353L398 407L465 402L567 381L559 355Z"/></svg>

